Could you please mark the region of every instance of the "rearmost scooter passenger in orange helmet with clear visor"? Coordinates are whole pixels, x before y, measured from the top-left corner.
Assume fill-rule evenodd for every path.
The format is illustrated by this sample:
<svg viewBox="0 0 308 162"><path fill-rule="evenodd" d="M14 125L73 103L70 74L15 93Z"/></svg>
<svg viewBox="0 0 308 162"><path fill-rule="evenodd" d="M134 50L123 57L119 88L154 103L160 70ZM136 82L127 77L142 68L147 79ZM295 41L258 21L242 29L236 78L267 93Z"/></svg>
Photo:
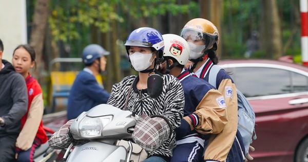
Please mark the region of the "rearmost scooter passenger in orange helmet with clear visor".
<svg viewBox="0 0 308 162"><path fill-rule="evenodd" d="M208 82L209 71L218 64L216 50L219 44L219 32L216 26L206 19L196 18L188 21L180 36L190 47L189 60L192 64L187 71ZM224 96L228 122L219 134L211 134L205 150L205 161L244 161L244 150L238 127L238 105L236 86L232 78L223 69L217 74L216 87ZM221 145L221 143L224 143Z"/></svg>

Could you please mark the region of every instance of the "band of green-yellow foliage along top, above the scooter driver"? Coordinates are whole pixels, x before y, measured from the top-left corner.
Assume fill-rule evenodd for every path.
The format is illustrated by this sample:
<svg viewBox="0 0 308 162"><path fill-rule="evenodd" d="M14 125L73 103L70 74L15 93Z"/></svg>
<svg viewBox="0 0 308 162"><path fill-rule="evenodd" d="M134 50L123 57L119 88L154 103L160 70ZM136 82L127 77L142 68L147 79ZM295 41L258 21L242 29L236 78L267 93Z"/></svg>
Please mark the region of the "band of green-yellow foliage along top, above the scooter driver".
<svg viewBox="0 0 308 162"><path fill-rule="evenodd" d="M79 0L51 3L49 26L54 41L64 43L82 39L82 28L97 27L102 33L110 31L110 22L125 23L127 15L133 19L155 17L170 12L172 15L187 13L197 8L197 3L177 4L176 0ZM127 25L127 24L123 24Z"/></svg>

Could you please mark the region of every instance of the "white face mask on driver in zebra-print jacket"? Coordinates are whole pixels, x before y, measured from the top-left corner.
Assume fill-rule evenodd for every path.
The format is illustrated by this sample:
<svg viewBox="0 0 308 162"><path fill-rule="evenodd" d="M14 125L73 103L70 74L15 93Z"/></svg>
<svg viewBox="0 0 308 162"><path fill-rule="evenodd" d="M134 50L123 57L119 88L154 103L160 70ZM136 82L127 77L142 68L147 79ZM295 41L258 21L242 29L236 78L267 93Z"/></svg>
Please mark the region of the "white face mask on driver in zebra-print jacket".
<svg viewBox="0 0 308 162"><path fill-rule="evenodd" d="M131 62L132 67L137 71L142 71L147 69L152 65L152 62L150 62L152 58L152 53L143 54L140 52L134 52L132 55L129 55L129 59Z"/></svg>

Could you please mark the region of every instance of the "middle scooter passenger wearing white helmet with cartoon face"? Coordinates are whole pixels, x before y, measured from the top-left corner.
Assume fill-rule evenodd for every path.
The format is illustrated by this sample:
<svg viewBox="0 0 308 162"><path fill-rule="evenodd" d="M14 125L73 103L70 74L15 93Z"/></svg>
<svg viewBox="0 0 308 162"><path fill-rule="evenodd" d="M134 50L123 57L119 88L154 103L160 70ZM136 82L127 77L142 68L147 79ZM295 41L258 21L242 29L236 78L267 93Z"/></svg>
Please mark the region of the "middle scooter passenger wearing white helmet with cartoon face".
<svg viewBox="0 0 308 162"><path fill-rule="evenodd" d="M182 37L164 34L163 39L165 62L160 65L161 72L177 77L185 96L184 118L175 130L177 147L171 162L202 161L205 140L209 134L220 133L227 123L224 97L207 81L185 70L190 48Z"/></svg>

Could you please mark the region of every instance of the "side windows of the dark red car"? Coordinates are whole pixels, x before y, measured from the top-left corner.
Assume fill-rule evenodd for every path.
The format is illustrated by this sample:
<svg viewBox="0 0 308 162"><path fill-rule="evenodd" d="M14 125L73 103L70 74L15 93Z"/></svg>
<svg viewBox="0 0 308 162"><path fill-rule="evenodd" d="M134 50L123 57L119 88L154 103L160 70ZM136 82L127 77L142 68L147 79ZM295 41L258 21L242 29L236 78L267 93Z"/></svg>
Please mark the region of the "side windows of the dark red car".
<svg viewBox="0 0 308 162"><path fill-rule="evenodd" d="M293 71L269 67L236 67L226 71L246 97L307 91L307 77Z"/></svg>

